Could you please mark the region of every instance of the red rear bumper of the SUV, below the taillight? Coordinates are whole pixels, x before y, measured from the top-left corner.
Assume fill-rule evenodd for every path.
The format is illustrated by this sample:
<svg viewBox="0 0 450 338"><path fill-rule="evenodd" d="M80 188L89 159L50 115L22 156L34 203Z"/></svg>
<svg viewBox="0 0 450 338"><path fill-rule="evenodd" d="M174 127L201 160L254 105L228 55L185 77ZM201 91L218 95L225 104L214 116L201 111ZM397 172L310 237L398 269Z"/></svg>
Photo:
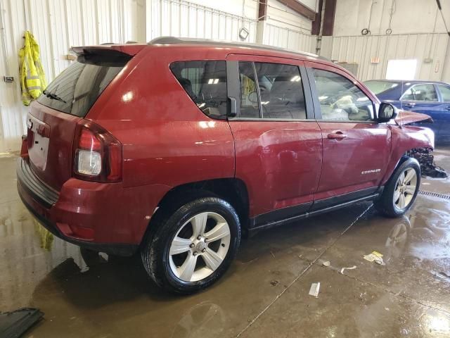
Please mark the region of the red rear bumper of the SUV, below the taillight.
<svg viewBox="0 0 450 338"><path fill-rule="evenodd" d="M169 188L124 188L71 178L56 192L33 173L28 161L18 159L18 193L39 222L67 242L118 256L137 251L152 211Z"/></svg>

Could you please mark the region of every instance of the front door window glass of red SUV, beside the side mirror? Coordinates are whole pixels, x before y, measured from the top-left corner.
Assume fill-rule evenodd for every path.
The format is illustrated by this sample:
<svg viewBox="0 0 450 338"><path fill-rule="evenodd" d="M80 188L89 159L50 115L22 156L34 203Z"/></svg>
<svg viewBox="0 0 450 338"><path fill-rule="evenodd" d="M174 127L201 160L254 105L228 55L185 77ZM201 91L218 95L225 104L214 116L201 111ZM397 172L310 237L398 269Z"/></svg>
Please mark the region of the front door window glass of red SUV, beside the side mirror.
<svg viewBox="0 0 450 338"><path fill-rule="evenodd" d="M327 70L313 69L322 120L374 120L373 103L346 77Z"/></svg>

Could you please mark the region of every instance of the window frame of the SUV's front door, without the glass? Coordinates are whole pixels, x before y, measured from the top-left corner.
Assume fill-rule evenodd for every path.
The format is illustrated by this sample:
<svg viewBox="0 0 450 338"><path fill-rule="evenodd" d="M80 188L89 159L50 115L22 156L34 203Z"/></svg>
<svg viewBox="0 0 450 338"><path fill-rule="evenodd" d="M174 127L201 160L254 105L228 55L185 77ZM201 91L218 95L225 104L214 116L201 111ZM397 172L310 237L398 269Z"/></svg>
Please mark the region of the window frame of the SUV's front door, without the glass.
<svg viewBox="0 0 450 338"><path fill-rule="evenodd" d="M316 80L314 79L314 74L313 74L314 69L324 70L326 72L338 74L342 77L345 77L350 82L352 82L354 84L354 86L356 88L358 88L359 90L361 90L361 92L363 92L363 94L366 95L368 97L368 99L372 102L373 115L374 115L373 120L338 120L338 119L324 120L322 118L321 105L319 103L319 94L318 94L317 88L316 88ZM351 78L349 78L347 75L345 75L344 72L342 72L340 69L334 68L333 66L330 66L330 65L322 65L321 63L308 62L306 64L306 70L307 70L307 75L308 75L308 79L309 79L309 86L311 87L311 95L312 95L312 100L313 100L313 104L314 104L314 115L316 116L317 122L321 122L321 123L366 123L366 124L371 124L371 125L379 124L378 123L378 108L379 108L378 102L373 98L373 96L371 94L369 94L366 90L364 90L361 87L361 85L359 85L359 82L356 79L351 80Z"/></svg>

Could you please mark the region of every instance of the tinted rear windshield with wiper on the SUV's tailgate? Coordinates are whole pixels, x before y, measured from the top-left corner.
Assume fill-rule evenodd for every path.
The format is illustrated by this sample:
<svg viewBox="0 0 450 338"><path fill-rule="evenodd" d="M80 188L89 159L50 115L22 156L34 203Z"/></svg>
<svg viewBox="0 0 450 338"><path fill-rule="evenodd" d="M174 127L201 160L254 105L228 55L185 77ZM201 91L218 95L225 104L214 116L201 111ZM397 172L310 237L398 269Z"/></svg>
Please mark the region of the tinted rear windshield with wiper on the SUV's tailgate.
<svg viewBox="0 0 450 338"><path fill-rule="evenodd" d="M60 73L39 96L44 106L84 118L103 90L120 73L130 57L79 58Z"/></svg>

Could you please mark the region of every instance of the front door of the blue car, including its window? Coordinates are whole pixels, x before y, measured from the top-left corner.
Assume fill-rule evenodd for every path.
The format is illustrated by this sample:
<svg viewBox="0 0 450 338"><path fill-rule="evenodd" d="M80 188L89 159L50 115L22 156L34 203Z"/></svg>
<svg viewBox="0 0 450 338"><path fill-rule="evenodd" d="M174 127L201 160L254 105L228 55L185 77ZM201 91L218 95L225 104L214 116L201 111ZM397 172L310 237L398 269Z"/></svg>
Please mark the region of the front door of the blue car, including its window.
<svg viewBox="0 0 450 338"><path fill-rule="evenodd" d="M442 102L435 85L432 83L413 84L405 90L400 98L400 107L405 111L415 111L430 115L434 123L418 123L420 126L429 127L435 136L439 137L440 120L442 119Z"/></svg>

